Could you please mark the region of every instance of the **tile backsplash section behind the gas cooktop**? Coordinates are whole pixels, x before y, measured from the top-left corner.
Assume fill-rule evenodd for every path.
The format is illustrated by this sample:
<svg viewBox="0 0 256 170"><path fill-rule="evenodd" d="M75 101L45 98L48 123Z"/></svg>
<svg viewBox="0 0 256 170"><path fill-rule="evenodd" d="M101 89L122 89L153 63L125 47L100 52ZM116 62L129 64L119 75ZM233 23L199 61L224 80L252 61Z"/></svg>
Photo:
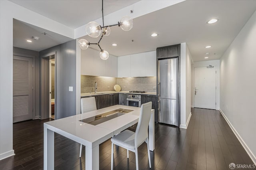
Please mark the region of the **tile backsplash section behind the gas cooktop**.
<svg viewBox="0 0 256 170"><path fill-rule="evenodd" d="M124 77L116 78L116 84L121 86L122 91L146 91L156 92L156 77Z"/></svg>

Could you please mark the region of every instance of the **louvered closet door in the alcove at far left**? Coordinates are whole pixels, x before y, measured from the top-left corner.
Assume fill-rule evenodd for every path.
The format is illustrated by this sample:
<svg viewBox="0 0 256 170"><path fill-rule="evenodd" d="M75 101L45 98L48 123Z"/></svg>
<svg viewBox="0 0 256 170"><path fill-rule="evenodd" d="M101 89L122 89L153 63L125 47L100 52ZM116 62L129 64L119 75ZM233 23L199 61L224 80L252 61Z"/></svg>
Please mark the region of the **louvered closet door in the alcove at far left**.
<svg viewBox="0 0 256 170"><path fill-rule="evenodd" d="M33 58L13 55L13 123L33 118Z"/></svg>

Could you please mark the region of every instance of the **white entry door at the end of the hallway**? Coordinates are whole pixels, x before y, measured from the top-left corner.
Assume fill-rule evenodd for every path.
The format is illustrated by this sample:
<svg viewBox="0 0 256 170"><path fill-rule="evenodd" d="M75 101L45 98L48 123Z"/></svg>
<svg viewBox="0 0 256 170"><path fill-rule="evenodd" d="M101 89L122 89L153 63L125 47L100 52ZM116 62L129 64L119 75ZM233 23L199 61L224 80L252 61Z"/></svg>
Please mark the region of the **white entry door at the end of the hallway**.
<svg viewBox="0 0 256 170"><path fill-rule="evenodd" d="M216 109L216 67L194 67L194 107Z"/></svg>

